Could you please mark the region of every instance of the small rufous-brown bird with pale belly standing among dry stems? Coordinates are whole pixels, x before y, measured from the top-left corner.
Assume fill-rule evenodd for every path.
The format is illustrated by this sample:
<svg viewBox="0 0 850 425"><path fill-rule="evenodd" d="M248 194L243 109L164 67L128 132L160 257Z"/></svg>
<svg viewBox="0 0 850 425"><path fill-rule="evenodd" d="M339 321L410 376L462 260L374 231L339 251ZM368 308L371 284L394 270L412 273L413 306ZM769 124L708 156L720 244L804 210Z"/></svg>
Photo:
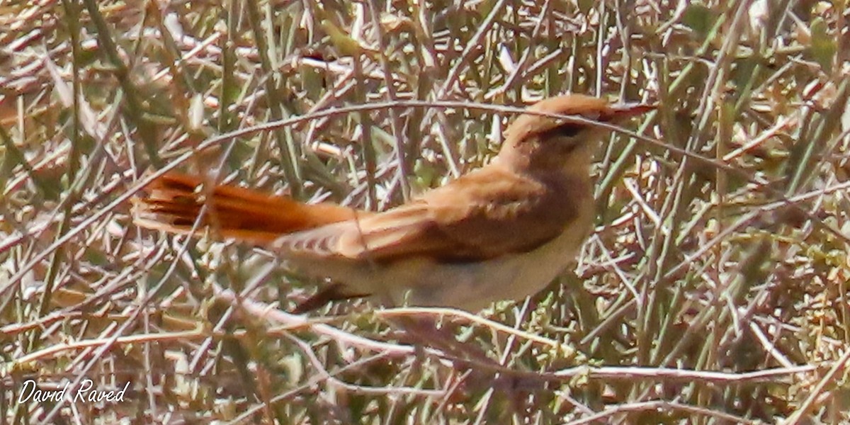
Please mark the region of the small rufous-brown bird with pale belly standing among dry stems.
<svg viewBox="0 0 850 425"><path fill-rule="evenodd" d="M654 109L581 94L542 99L507 127L488 164L383 212L166 173L133 199L133 221L174 234L209 228L330 280L297 313L354 297L478 312L541 292L575 263L595 219L595 150L610 126Z"/></svg>

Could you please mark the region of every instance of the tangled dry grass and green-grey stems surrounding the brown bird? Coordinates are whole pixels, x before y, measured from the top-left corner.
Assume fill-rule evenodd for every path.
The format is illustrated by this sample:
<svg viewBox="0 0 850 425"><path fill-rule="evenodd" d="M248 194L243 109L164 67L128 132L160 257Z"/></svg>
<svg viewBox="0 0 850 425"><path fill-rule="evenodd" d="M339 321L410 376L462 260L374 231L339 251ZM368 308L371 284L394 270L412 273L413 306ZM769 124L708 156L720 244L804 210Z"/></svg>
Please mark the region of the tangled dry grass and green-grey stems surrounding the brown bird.
<svg viewBox="0 0 850 425"><path fill-rule="evenodd" d="M850 421L846 5L3 3L0 422ZM529 303L304 319L315 282L268 252L129 218L171 167L386 208L566 92L660 109L600 150L597 230ZM393 325L422 315L459 342Z"/></svg>

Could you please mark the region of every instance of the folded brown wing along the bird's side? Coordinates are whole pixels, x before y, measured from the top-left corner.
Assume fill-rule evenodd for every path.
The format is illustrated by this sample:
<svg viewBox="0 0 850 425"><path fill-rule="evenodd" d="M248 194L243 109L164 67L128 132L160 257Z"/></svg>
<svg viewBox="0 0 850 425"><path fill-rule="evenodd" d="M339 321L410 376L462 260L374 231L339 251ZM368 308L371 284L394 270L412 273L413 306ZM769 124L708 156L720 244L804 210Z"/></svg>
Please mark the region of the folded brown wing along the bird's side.
<svg viewBox="0 0 850 425"><path fill-rule="evenodd" d="M387 212L287 235L277 247L378 263L415 256L467 262L528 252L560 235L578 217L576 207L590 201L563 195L565 184L581 182L543 180L491 165Z"/></svg>

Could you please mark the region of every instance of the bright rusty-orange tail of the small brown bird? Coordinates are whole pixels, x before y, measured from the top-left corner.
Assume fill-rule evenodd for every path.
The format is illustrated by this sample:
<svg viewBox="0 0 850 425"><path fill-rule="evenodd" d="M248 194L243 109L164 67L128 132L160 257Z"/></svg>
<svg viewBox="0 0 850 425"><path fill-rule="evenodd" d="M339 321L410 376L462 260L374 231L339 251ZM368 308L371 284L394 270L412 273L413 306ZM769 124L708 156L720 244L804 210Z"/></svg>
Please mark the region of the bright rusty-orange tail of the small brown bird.
<svg viewBox="0 0 850 425"><path fill-rule="evenodd" d="M150 229L172 233L190 232L206 205L200 227L223 238L257 244L331 223L362 218L369 212L334 204L304 204L286 196L219 185L205 190L201 178L168 173L146 189L148 195L133 199L133 221Z"/></svg>

